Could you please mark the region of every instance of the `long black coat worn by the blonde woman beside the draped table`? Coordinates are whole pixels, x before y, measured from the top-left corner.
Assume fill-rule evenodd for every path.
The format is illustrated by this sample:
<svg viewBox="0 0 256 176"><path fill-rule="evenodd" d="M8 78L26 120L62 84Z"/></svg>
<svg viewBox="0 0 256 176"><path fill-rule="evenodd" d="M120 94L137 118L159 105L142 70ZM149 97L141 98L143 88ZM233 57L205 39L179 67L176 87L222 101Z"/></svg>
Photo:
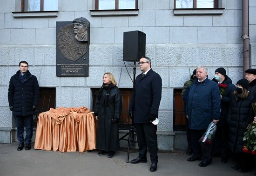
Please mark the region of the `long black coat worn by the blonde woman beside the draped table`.
<svg viewBox="0 0 256 176"><path fill-rule="evenodd" d="M103 151L119 150L118 123L112 119L120 119L122 111L122 96L119 88L113 87L109 92L107 105L104 104L107 90L101 89L95 105L95 115L98 115L96 148Z"/></svg>

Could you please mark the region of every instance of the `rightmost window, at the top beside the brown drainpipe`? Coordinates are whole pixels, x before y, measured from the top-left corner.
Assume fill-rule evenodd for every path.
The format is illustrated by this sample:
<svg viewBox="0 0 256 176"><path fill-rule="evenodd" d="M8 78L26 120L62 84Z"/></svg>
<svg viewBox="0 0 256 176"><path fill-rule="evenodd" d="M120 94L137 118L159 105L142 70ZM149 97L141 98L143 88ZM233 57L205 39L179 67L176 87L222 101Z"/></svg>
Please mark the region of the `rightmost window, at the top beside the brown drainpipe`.
<svg viewBox="0 0 256 176"><path fill-rule="evenodd" d="M175 0L175 8L218 8L219 0Z"/></svg>

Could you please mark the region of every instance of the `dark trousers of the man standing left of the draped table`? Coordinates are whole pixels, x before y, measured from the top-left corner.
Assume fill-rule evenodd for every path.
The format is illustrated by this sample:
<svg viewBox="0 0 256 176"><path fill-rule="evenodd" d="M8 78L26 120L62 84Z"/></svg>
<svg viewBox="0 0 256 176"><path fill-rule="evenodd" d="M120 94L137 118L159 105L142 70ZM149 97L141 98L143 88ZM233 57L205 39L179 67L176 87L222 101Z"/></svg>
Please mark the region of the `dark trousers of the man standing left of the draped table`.
<svg viewBox="0 0 256 176"><path fill-rule="evenodd" d="M17 137L20 143L24 144L24 141L26 144L31 143L31 139L33 136L33 115L28 116L15 116L16 119L16 126L17 126ZM24 125L26 127L26 139L24 140Z"/></svg>

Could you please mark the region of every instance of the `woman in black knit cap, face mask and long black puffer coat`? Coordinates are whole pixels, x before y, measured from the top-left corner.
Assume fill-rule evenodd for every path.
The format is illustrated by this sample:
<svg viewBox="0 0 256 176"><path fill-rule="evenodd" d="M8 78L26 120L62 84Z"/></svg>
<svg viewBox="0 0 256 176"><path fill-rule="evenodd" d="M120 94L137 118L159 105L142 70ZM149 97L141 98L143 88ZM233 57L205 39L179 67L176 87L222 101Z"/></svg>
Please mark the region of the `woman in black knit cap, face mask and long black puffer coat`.
<svg viewBox="0 0 256 176"><path fill-rule="evenodd" d="M227 118L229 126L229 148L234 154L234 157L239 161L232 168L240 172L247 172L250 170L250 156L242 151L243 134L248 126L247 120L253 96L249 94L249 82L246 79L239 80L236 85L234 96L231 96Z"/></svg>

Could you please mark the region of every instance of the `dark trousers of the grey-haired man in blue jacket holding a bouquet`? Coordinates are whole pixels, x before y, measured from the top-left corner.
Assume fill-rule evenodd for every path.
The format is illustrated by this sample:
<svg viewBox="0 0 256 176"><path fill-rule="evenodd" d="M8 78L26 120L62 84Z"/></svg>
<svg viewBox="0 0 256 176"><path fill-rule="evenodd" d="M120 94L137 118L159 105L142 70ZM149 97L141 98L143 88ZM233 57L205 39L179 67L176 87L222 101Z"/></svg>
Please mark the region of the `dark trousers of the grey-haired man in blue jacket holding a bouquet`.
<svg viewBox="0 0 256 176"><path fill-rule="evenodd" d="M206 130L191 130L191 144L194 152L193 157L202 157L204 161L212 160L212 144L198 142Z"/></svg>

